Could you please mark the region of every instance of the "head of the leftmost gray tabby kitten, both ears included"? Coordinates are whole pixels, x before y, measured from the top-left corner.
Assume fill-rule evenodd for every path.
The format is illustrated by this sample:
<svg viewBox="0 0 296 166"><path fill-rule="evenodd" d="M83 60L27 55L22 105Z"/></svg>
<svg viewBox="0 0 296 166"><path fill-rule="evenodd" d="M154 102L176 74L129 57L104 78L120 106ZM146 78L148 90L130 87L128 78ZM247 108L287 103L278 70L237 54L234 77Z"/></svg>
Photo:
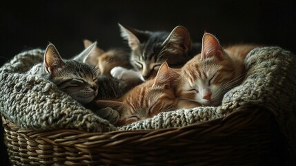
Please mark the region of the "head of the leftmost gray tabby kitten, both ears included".
<svg viewBox="0 0 296 166"><path fill-rule="evenodd" d="M82 104L91 102L98 93L97 70L86 64L93 46L95 44L75 57L76 60L63 60L53 44L48 45L44 54L44 65L49 80Z"/></svg>

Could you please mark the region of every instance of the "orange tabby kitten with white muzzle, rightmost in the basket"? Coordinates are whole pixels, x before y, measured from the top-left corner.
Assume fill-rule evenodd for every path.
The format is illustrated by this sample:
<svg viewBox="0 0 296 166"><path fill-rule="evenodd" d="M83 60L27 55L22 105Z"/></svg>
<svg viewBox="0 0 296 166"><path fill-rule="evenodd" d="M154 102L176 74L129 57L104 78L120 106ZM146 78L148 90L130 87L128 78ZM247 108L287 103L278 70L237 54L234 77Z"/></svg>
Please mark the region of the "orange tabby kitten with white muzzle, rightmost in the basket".
<svg viewBox="0 0 296 166"><path fill-rule="evenodd" d="M205 33L201 53L181 68L179 97L217 106L227 91L244 80L244 58L255 47L235 45L223 49L215 36Z"/></svg>

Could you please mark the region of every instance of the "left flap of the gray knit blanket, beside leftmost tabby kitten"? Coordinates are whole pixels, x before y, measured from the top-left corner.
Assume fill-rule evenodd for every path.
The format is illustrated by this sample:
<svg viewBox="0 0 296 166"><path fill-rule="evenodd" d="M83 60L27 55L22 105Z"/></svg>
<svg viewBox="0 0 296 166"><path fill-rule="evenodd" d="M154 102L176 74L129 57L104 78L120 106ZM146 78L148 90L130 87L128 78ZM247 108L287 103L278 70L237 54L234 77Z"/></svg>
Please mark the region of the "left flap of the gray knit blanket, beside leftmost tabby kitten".
<svg viewBox="0 0 296 166"><path fill-rule="evenodd" d="M23 52L0 68L1 115L24 129L114 130L52 82L26 73L43 62L43 54L39 49Z"/></svg>

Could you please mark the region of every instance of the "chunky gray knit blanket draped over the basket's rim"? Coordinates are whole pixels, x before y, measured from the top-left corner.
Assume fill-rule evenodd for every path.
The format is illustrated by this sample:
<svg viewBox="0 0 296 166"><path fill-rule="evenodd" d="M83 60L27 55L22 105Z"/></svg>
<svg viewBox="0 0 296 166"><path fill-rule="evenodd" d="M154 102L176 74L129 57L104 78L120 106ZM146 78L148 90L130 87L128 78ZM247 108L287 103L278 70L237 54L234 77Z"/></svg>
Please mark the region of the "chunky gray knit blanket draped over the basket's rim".
<svg viewBox="0 0 296 166"><path fill-rule="evenodd" d="M159 113L154 118L115 127L59 91L55 84L26 71L43 62L43 50L16 55L0 68L0 113L23 129L80 129L115 131L183 127L227 116L248 105L273 111L296 154L296 59L279 47L255 48L248 53L246 79L224 95L219 107L198 107Z"/></svg>

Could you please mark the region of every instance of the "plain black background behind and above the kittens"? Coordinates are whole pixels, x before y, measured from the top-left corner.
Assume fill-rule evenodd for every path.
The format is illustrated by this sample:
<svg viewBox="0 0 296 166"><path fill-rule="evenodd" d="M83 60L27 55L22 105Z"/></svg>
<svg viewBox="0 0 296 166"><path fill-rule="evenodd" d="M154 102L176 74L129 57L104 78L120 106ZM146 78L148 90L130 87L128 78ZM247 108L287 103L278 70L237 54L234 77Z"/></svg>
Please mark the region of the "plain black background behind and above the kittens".
<svg viewBox="0 0 296 166"><path fill-rule="evenodd" d="M17 53L55 44L62 57L83 50L82 39L103 49L126 46L117 22L139 30L188 28L194 42L204 31L221 44L281 46L296 53L295 1L4 1L0 5L0 66ZM1 98L1 97L0 97ZM7 163L0 131L0 163ZM8 164L6 164L8 165Z"/></svg>

